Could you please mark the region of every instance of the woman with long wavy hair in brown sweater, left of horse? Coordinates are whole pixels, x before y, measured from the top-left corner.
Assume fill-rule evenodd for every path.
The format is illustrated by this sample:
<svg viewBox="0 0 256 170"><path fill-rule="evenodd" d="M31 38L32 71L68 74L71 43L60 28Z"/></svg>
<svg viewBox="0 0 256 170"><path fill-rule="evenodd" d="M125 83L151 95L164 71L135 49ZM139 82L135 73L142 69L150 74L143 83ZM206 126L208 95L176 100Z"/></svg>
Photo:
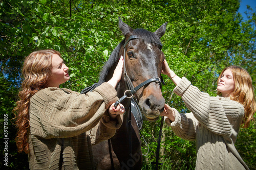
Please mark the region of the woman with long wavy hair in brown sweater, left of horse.
<svg viewBox="0 0 256 170"><path fill-rule="evenodd" d="M109 82L80 94L59 85L70 79L59 52L40 50L24 62L16 112L18 152L29 156L30 169L91 169L91 144L111 138L122 124L124 108L115 87L122 57Z"/></svg>

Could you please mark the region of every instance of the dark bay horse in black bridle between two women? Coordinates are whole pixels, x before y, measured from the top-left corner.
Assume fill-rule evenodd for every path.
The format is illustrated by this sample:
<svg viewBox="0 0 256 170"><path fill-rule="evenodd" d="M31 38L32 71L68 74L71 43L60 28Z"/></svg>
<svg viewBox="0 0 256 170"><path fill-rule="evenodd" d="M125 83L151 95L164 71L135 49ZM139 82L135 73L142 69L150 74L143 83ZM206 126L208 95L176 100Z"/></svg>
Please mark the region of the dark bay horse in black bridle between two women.
<svg viewBox="0 0 256 170"><path fill-rule="evenodd" d="M134 87L148 79L160 78L164 60L160 38L165 33L166 24L167 22L152 33L144 29L133 30L119 18L119 29L125 39L119 43L105 63L97 86L110 80L121 55L124 57L126 74ZM125 75L122 76L117 86L118 98L121 98L127 90L124 77ZM134 94L143 118L150 122L158 120L164 109L165 100L160 86L161 83L152 82L143 86ZM129 114L127 114L129 112L129 100L124 100L122 104L126 111L123 124L111 138L114 168L141 169L142 153L139 128L134 116L131 116L132 153L129 153ZM96 169L111 169L113 163L111 164L108 141L93 145L93 155Z"/></svg>

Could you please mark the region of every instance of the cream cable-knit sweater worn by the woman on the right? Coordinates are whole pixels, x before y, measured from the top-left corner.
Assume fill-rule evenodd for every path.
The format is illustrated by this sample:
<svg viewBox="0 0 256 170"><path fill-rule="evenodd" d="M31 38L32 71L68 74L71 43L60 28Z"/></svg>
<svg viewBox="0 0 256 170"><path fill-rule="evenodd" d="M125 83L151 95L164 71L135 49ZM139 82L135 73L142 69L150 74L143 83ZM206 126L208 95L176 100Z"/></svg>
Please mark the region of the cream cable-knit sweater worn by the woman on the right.
<svg viewBox="0 0 256 170"><path fill-rule="evenodd" d="M182 114L172 108L175 122L165 118L165 123L177 136L196 140L196 169L249 169L234 147L244 116L243 106L228 98L211 97L184 77L174 92L191 113Z"/></svg>

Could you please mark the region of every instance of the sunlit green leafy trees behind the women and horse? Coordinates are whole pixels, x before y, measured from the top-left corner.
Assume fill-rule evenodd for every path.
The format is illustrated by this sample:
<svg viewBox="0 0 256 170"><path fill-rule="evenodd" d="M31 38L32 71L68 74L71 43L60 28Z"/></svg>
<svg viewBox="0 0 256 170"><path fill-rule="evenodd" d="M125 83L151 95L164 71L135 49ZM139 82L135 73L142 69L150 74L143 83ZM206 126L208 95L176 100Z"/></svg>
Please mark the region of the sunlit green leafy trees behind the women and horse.
<svg viewBox="0 0 256 170"><path fill-rule="evenodd" d="M168 22L161 38L170 67L185 76L201 91L216 96L217 78L229 65L248 70L253 86L255 69L255 7L247 7L244 19L239 0L171 0L171 1L83 1L35 0L0 1L0 143L1 162L5 169L28 169L26 154L18 154L12 109L22 83L21 69L25 57L33 51L53 48L69 66L71 79L61 85L75 91L98 81L99 72L111 52L124 38L118 29L118 16L132 28L156 31ZM173 93L174 84L163 76L166 103L182 113L189 112L181 98ZM255 91L254 91L255 92ZM254 116L255 117L255 116ZM153 169L160 120L144 121L141 130L148 146L143 169ZM250 169L256 169L255 125L241 129L236 148ZM145 154L147 147L142 142ZM164 126L161 169L194 169L194 141L174 135ZM3 159L3 160L2 160Z"/></svg>

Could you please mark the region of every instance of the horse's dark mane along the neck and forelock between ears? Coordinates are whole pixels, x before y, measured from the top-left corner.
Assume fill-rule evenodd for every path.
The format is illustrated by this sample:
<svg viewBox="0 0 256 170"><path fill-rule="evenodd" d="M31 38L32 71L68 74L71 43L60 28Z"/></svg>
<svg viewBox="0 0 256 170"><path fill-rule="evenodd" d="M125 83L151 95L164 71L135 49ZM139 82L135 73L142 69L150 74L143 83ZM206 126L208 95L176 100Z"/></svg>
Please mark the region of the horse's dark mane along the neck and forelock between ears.
<svg viewBox="0 0 256 170"><path fill-rule="evenodd" d="M132 35L136 35L139 37L140 41L144 41L147 43L155 43L157 45L161 44L160 38L155 34L150 31L147 31L145 29L135 29L132 32ZM99 81L97 83L97 86L101 85L102 83L105 82L106 76L109 74L109 70L115 65L117 60L119 59L118 54L121 49L121 46L125 43L125 39L123 39L115 48L115 50L111 53L108 61L104 64L102 71L100 72L100 77Z"/></svg>

